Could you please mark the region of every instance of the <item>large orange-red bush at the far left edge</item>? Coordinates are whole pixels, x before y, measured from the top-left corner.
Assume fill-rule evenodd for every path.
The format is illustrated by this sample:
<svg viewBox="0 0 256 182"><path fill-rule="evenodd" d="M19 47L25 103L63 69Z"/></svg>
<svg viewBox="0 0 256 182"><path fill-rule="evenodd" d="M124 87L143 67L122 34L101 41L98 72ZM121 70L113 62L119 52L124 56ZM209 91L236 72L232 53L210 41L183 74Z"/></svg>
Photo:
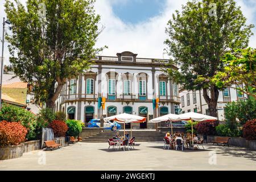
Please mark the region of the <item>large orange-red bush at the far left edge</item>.
<svg viewBox="0 0 256 182"><path fill-rule="evenodd" d="M11 146L26 140L27 129L19 122L0 122L0 147Z"/></svg>

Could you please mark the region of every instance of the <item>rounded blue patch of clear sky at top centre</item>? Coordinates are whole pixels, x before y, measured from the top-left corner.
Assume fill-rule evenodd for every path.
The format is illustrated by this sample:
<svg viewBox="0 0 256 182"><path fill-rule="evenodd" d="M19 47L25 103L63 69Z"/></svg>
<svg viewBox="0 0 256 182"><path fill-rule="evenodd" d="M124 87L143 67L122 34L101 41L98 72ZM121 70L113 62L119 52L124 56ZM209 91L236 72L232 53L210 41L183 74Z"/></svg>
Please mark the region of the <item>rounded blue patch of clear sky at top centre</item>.
<svg viewBox="0 0 256 182"><path fill-rule="evenodd" d="M139 23L159 15L164 10L166 0L130 0L113 3L113 12L123 22Z"/></svg>

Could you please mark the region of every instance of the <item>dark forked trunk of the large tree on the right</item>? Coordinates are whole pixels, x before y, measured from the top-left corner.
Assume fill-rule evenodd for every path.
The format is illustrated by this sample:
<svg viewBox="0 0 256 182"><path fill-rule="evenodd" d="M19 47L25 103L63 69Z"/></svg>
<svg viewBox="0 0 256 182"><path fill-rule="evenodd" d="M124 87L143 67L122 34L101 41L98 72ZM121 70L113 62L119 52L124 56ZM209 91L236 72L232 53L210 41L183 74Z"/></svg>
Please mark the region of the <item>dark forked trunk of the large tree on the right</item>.
<svg viewBox="0 0 256 182"><path fill-rule="evenodd" d="M210 97L208 96L207 89L203 89L203 96L205 102L208 104L209 115L212 117L218 117L217 114L217 102L218 102L218 88L215 85L210 86Z"/></svg>

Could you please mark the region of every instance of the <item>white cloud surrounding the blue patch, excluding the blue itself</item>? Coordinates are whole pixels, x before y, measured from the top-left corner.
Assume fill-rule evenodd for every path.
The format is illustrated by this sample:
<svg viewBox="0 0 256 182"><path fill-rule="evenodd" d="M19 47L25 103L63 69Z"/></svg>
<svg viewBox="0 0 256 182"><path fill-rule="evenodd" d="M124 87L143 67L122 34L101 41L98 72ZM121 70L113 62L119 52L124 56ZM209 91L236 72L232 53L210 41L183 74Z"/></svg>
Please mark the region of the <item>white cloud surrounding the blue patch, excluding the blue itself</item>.
<svg viewBox="0 0 256 182"><path fill-rule="evenodd" d="M139 0L138 0L139 1ZM255 23L255 1L254 0L236 0L241 6L243 14L247 18L247 23ZM20 1L24 4L26 0ZM187 0L167 0L166 6L162 13L152 17L145 22L138 24L126 24L113 12L113 4L125 6L129 0L97 0L96 12L101 15L101 24L105 27L104 31L98 38L97 47L108 46L101 55L115 56L117 52L131 51L138 53L138 57L150 57L159 59L168 59L167 55L163 56L164 40L167 36L165 28L168 20L171 18L175 10L180 10L181 5L185 5ZM0 21L2 24L3 16L3 0L0 0ZM146 10L145 10L146 11ZM131 12L132 13L132 12ZM256 34L256 28L254 28ZM0 35L2 36L2 27L0 27ZM256 47L256 35L251 37L251 47ZM8 60L9 53L5 46L5 57Z"/></svg>

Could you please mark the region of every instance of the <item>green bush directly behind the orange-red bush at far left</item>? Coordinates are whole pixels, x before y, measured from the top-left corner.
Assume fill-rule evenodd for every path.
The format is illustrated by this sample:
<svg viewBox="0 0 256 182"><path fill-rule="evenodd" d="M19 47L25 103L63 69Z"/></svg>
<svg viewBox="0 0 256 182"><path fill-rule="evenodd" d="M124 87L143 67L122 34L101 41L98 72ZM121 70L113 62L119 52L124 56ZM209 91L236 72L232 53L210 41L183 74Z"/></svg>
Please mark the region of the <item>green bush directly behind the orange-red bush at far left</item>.
<svg viewBox="0 0 256 182"><path fill-rule="evenodd" d="M28 129L27 139L34 140L36 139L36 115L30 111L9 104L3 104L3 107L0 111L0 122L20 122L26 129Z"/></svg>

